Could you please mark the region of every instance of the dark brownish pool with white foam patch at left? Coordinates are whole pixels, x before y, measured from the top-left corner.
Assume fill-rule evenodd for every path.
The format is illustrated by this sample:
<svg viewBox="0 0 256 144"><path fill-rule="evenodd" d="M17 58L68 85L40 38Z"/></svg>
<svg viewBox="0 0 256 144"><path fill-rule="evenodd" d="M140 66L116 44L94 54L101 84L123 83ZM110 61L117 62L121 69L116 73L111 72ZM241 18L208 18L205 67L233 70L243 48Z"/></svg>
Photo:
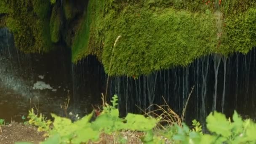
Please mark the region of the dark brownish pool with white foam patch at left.
<svg viewBox="0 0 256 144"><path fill-rule="evenodd" d="M27 116L31 108L47 117L51 113L66 116L61 105L67 103L68 98L67 114L73 114L68 115L69 118L75 120L77 114L80 117L88 114L93 110L92 105L101 104L101 91L99 77L91 71L92 65L83 66L88 70L81 71L85 80L81 85L81 77L72 73L68 48L44 55L27 55L15 48L0 51L0 119L21 122L21 117ZM51 89L36 89L37 82Z"/></svg>

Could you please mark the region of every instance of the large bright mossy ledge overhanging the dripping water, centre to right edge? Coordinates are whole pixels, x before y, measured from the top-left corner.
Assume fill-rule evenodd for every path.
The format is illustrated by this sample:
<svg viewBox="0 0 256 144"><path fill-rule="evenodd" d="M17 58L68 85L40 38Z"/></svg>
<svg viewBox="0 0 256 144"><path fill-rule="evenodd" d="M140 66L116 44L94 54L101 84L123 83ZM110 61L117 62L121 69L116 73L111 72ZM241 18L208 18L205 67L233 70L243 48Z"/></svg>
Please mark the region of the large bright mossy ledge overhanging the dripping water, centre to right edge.
<svg viewBox="0 0 256 144"><path fill-rule="evenodd" d="M147 75L211 53L247 53L256 45L255 22L256 3L248 0L90 0L72 61L92 54L109 75Z"/></svg>

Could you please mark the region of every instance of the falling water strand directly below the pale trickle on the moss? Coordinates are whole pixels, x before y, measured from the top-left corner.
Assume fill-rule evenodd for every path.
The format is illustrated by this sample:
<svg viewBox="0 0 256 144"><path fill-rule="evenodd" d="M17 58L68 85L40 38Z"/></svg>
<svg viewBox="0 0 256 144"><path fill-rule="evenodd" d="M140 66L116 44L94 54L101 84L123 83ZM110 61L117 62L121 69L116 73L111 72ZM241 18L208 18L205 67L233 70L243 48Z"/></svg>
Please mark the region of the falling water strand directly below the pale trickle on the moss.
<svg viewBox="0 0 256 144"><path fill-rule="evenodd" d="M214 95L213 95L213 111L216 110L216 100L217 100L217 86L218 86L218 73L219 73L219 65L221 62L219 55L213 55L214 62L214 72L215 72L215 85L214 85Z"/></svg>

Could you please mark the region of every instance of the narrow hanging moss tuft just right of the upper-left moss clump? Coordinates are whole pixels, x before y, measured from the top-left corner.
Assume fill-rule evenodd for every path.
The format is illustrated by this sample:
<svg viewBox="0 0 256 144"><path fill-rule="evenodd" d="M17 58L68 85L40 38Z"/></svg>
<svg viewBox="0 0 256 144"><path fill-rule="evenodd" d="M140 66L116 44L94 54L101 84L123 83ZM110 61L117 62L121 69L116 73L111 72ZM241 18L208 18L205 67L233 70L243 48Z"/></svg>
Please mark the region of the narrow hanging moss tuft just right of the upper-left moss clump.
<svg viewBox="0 0 256 144"><path fill-rule="evenodd" d="M53 7L50 20L51 41L57 43L60 39L61 13L57 5Z"/></svg>

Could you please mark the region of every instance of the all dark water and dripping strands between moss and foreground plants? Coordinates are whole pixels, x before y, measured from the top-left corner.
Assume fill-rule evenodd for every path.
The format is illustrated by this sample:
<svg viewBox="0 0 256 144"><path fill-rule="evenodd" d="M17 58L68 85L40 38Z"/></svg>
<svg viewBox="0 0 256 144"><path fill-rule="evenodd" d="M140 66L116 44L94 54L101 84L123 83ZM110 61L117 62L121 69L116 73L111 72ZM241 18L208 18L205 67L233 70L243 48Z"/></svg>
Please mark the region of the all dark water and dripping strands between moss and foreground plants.
<svg viewBox="0 0 256 144"><path fill-rule="evenodd" d="M205 120L212 111L232 115L236 109L242 115L256 116L256 49L247 55L235 53L229 57L212 54L196 59L187 67L175 67L150 75L110 77L108 100L118 96L120 116L127 112L143 113L151 104L164 104L181 114L192 86L185 120ZM101 104L106 91L107 75L94 56L76 65L71 63L71 51L65 45L55 51L24 54L14 48L13 36L0 29L0 118L22 121L32 107L49 116L51 112L65 116L60 105L70 104L68 115L83 116ZM40 84L36 85L35 83ZM36 88L46 88L39 90ZM139 109L139 108L141 109ZM150 107L149 110L154 109Z"/></svg>

